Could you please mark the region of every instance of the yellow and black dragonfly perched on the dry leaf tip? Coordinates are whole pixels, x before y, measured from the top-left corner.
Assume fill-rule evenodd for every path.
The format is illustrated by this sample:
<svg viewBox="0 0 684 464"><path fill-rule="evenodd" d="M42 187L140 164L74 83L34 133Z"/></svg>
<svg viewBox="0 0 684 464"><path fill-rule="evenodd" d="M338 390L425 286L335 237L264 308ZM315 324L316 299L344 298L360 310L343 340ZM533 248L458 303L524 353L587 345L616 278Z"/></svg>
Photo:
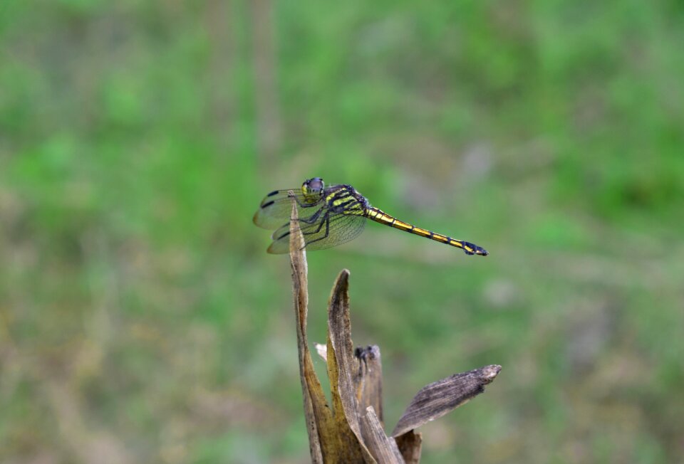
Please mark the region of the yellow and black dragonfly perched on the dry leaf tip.
<svg viewBox="0 0 684 464"><path fill-rule="evenodd" d="M323 179L307 179L299 189L274 190L261 201L254 223L262 228L275 230L271 235L273 243L267 252L289 253L291 199L297 205L301 233L306 250L323 250L346 243L363 232L366 221L379 222L400 231L413 233L446 245L455 246L467 255L487 256L484 248L467 241L428 231L400 221L385 211L371 206L365 196L351 185L326 186Z"/></svg>

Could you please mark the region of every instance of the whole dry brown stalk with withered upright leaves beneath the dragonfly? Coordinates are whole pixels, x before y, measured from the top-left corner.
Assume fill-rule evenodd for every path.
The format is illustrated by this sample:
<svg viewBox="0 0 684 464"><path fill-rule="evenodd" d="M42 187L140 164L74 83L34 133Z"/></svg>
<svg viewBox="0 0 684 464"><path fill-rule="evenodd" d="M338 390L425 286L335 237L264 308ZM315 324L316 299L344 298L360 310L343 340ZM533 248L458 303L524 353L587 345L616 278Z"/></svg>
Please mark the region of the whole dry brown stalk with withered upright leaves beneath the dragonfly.
<svg viewBox="0 0 684 464"><path fill-rule="evenodd" d="M353 349L349 317L349 271L338 275L328 301L328 341L317 345L328 364L331 405L323 394L306 337L306 251L296 204L290 220L290 263L299 348L304 416L313 463L410 463L420 461L422 438L414 429L445 415L484 391L500 366L454 374L418 391L391 436L384 431L380 348Z"/></svg>

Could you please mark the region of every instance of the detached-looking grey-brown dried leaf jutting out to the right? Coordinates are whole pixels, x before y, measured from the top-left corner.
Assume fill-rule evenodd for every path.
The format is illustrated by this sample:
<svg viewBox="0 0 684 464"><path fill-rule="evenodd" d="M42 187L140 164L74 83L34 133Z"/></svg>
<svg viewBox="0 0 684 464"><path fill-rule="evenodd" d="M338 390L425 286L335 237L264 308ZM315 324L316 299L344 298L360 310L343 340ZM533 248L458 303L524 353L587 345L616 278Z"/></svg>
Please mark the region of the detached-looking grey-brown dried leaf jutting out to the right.
<svg viewBox="0 0 684 464"><path fill-rule="evenodd" d="M481 367L424 386L413 397L394 428L392 436L400 436L465 404L474 396L481 394L484 386L493 381L500 370L501 366L497 365Z"/></svg>

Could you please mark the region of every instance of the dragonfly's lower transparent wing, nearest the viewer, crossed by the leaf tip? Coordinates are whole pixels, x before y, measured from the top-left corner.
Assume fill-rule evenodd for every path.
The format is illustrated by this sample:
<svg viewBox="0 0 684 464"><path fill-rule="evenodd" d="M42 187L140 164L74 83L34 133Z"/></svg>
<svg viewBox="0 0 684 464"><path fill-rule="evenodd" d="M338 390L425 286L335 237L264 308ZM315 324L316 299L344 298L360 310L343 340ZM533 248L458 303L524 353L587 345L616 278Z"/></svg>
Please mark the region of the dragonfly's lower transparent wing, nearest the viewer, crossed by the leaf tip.
<svg viewBox="0 0 684 464"><path fill-rule="evenodd" d="M366 226L366 217L356 214L333 214L326 216L325 213L318 217L314 223L301 222L301 232L304 234L307 250L323 250L332 248L341 243L346 243L363 232ZM273 233L273 243L268 252L274 254L289 253L290 251L290 225L289 223Z"/></svg>

